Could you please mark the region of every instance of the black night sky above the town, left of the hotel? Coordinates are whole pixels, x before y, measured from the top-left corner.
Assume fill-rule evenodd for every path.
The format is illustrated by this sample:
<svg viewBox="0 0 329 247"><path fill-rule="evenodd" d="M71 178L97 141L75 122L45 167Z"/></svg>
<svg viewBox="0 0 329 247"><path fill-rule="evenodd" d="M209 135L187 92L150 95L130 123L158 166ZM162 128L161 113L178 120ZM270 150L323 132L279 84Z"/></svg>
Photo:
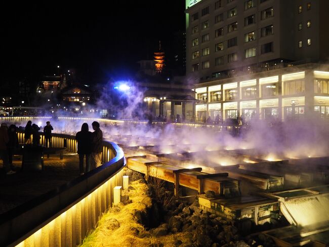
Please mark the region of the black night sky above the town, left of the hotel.
<svg viewBox="0 0 329 247"><path fill-rule="evenodd" d="M112 6L109 5L115 2ZM74 69L84 83L134 74L185 28L184 0L2 4L3 81Z"/></svg>

